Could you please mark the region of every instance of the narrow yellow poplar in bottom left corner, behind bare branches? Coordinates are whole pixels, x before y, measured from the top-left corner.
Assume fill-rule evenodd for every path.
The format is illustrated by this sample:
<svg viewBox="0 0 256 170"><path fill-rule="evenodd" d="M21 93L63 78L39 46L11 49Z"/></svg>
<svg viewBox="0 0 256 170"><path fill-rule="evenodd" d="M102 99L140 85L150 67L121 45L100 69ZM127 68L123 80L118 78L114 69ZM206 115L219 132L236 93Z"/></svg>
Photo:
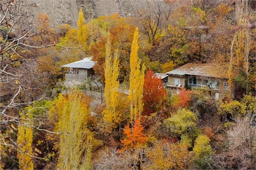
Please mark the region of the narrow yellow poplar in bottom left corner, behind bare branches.
<svg viewBox="0 0 256 170"><path fill-rule="evenodd" d="M29 111L32 107L29 106L27 110ZM20 170L34 170L32 154L32 142L33 142L33 127L29 125L33 124L32 114L30 112L24 114L20 113L21 122L27 124L28 126L18 125L18 137L17 144L19 146L17 158L19 160Z"/></svg>

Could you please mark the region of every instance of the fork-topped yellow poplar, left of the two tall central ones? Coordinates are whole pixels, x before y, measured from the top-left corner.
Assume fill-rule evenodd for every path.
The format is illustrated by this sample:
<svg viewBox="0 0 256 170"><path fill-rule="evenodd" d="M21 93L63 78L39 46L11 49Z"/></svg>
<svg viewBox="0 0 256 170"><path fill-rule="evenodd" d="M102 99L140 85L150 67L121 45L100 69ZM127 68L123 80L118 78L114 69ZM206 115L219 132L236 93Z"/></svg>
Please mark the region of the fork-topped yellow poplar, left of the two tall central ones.
<svg viewBox="0 0 256 170"><path fill-rule="evenodd" d="M113 61L114 59L114 61ZM118 88L119 88L119 60L118 51L115 52L114 58L111 56L111 40L108 37L106 44L106 58L105 58L105 104L104 120L115 125L119 122L119 115L117 113L118 107Z"/></svg>

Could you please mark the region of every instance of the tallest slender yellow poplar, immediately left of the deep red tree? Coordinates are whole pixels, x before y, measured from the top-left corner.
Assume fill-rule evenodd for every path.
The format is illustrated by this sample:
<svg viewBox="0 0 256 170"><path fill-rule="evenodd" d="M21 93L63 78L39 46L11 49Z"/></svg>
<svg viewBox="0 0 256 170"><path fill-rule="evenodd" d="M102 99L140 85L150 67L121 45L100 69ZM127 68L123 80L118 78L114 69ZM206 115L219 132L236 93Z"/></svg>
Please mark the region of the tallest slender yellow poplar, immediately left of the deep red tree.
<svg viewBox="0 0 256 170"><path fill-rule="evenodd" d="M141 59L138 58L138 28L135 29L130 53L129 100L130 120L139 118L143 109L142 93L145 66L140 68Z"/></svg>

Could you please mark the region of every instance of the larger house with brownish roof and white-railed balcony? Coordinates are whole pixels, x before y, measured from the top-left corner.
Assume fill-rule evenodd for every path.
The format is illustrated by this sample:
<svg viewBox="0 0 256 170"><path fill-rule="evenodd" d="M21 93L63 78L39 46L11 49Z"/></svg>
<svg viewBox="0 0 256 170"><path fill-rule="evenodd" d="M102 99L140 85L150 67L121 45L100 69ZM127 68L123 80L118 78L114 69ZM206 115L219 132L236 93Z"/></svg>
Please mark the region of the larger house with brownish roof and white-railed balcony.
<svg viewBox="0 0 256 170"><path fill-rule="evenodd" d="M218 63L188 63L166 74L167 88L173 95L179 94L181 88L209 90L209 95L215 100L230 93L227 69ZM231 90L232 96L233 92Z"/></svg>

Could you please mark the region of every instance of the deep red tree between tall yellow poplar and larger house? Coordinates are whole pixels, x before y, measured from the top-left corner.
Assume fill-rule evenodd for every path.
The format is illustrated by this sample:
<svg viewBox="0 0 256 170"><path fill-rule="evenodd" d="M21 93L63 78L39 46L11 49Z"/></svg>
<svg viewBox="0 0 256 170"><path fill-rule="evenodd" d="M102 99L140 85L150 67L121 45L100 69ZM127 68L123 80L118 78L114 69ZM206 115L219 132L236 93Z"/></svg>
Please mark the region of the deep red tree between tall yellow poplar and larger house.
<svg viewBox="0 0 256 170"><path fill-rule="evenodd" d="M143 86L143 112L142 114L150 114L156 112L157 107L162 104L166 97L166 91L163 87L162 80L158 78L153 71L147 71Z"/></svg>

